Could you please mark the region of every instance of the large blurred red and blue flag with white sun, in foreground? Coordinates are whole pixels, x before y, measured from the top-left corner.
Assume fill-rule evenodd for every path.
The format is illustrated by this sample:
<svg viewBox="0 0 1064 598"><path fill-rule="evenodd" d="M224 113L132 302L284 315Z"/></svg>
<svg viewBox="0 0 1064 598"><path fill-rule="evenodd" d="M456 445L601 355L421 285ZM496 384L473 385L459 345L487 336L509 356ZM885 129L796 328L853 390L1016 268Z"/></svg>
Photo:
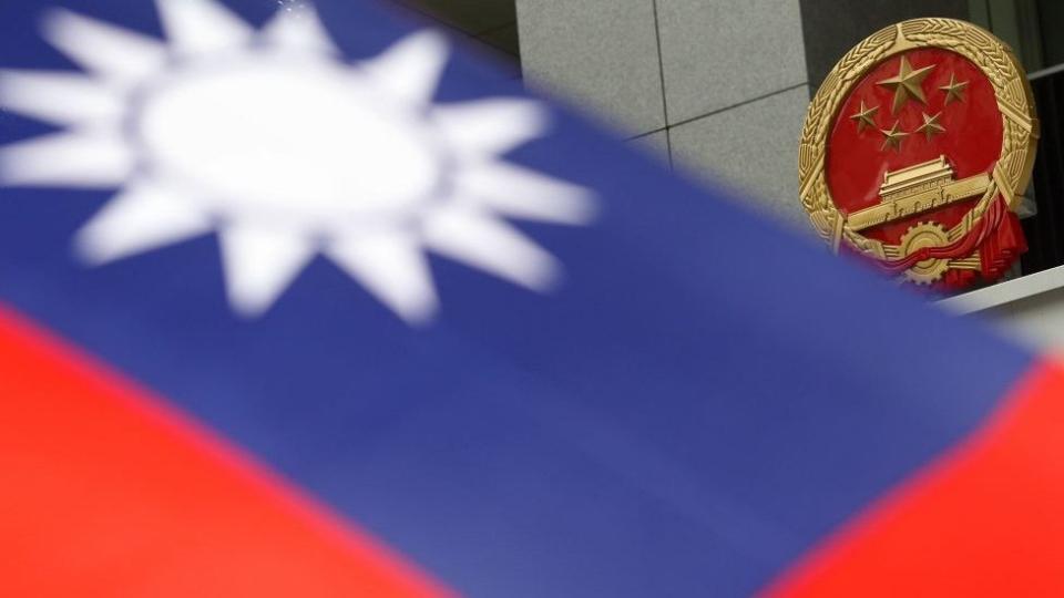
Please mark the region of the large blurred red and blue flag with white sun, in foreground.
<svg viewBox="0 0 1064 598"><path fill-rule="evenodd" d="M0 11L0 594L1064 591L1056 365L374 7Z"/></svg>

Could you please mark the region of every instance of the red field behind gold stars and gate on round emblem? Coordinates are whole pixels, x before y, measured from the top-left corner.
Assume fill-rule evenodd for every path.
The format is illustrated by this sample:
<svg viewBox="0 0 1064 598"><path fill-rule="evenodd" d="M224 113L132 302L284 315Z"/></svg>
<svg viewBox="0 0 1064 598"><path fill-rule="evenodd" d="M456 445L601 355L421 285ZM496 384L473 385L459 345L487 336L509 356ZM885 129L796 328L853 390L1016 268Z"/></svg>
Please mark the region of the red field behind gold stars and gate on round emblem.
<svg viewBox="0 0 1064 598"><path fill-rule="evenodd" d="M922 83L927 104L909 99L891 114L894 91L878 82L898 75L901 56L906 56L912 70L933 65ZM945 104L947 93L939 87L948 85L950 75L958 82L968 81L963 101ZM866 107L879 106L873 115L876 127L858 132L857 122L850 116ZM917 133L923 124L922 114L939 112L939 124L945 127L930 141ZM894 122L899 130L909 133L901 142L901 151L882 150L883 134ZM879 204L879 186L883 174L913 164L920 164L944 155L953 166L959 181L979 173L993 171L1001 155L1002 121L998 110L994 87L983 72L964 56L939 48L910 50L896 54L868 72L853 86L836 115L828 137L827 182L835 205L845 214ZM933 213L918 214L901 220L862 230L861 234L880 241L896 245L906 230L918 221L932 218L947 229L955 226L972 209L974 199L953 204Z"/></svg>

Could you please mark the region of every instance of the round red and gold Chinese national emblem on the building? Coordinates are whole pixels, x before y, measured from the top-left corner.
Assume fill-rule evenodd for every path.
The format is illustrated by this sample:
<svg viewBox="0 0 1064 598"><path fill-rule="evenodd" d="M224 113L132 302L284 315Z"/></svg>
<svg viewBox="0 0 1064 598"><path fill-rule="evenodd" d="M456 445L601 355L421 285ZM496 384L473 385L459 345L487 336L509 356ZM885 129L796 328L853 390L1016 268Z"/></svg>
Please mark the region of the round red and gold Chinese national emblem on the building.
<svg viewBox="0 0 1064 598"><path fill-rule="evenodd" d="M837 252L944 291L986 283L1026 250L1015 209L1039 122L991 33L915 19L859 43L809 106L801 203Z"/></svg>

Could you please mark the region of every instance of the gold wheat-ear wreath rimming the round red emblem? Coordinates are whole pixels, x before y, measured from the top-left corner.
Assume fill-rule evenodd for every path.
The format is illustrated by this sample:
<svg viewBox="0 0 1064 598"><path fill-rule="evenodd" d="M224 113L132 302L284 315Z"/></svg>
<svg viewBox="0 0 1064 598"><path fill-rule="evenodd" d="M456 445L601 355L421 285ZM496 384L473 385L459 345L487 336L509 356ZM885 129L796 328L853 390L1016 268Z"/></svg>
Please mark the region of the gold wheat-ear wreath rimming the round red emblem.
<svg viewBox="0 0 1064 598"><path fill-rule="evenodd" d="M829 128L853 85L882 61L914 48L941 48L970 60L993 85L1001 112L1001 156L990 187L961 223L947 231L949 239L958 239L970 230L998 192L1004 196L1009 209L1014 210L1031 178L1039 120L1031 85L1009 47L989 31L953 19L912 19L881 29L853 47L831 69L809 103L801 130L798 193L814 228L835 251L845 240L861 254L879 260L904 257L901 246L870 239L850 228L828 189L825 157Z"/></svg>

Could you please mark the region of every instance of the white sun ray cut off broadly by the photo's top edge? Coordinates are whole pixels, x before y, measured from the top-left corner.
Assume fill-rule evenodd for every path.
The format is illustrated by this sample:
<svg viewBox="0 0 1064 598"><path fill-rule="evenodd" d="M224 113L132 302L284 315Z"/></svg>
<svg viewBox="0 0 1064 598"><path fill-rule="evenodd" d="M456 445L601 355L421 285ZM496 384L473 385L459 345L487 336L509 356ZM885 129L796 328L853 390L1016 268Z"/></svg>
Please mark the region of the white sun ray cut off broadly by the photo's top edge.
<svg viewBox="0 0 1064 598"><path fill-rule="evenodd" d="M166 39L178 55L235 50L255 33L244 20L211 0L157 0Z"/></svg>

